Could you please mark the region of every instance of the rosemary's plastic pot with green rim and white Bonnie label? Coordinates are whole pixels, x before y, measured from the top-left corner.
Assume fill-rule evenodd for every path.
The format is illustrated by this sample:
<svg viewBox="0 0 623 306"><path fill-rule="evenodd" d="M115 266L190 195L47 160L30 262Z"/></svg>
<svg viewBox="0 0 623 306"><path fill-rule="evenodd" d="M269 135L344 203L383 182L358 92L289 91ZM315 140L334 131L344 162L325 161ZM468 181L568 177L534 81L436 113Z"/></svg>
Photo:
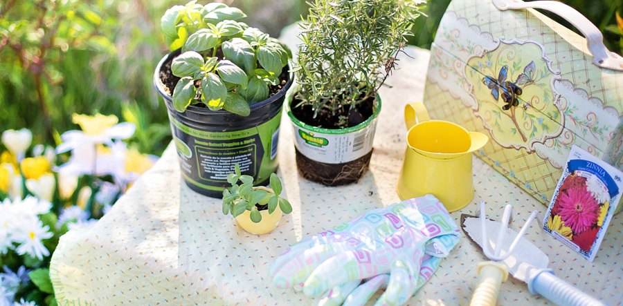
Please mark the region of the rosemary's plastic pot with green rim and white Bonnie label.
<svg viewBox="0 0 623 306"><path fill-rule="evenodd" d="M291 108L298 102L287 103L287 114L294 127L296 166L303 178L340 186L357 182L370 165L372 142L381 112L381 98L376 95L372 115L350 128L319 128L305 124Z"/></svg>

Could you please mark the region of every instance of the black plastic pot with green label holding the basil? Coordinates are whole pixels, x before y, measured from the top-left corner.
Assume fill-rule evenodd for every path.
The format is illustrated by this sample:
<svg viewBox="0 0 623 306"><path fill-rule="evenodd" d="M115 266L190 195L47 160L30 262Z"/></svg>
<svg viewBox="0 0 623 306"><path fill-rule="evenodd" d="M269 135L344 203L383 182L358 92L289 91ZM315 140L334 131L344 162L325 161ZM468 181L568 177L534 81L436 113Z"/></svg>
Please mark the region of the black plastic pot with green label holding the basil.
<svg viewBox="0 0 623 306"><path fill-rule="evenodd" d="M190 105L184 113L173 108L165 92L161 69L179 55L171 52L161 59L154 73L154 85L163 97L169 114L173 141L177 147L181 174L190 189L212 198L221 198L230 187L227 175L240 165L260 185L269 184L277 171L279 124L291 77L276 95L251 105L251 115L242 117L228 111L210 111ZM288 71L288 66L284 68Z"/></svg>

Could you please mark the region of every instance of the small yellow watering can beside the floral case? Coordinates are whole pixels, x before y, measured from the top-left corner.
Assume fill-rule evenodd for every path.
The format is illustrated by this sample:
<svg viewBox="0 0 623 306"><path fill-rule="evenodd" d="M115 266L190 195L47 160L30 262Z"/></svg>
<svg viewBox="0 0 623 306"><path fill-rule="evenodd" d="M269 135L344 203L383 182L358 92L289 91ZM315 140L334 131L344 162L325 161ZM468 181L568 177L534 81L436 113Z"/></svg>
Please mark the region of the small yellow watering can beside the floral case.
<svg viewBox="0 0 623 306"><path fill-rule="evenodd" d="M407 149L398 179L399 198L431 193L449 212L467 206L473 198L471 153L489 137L452 122L431 120L422 103L407 104L404 119Z"/></svg>

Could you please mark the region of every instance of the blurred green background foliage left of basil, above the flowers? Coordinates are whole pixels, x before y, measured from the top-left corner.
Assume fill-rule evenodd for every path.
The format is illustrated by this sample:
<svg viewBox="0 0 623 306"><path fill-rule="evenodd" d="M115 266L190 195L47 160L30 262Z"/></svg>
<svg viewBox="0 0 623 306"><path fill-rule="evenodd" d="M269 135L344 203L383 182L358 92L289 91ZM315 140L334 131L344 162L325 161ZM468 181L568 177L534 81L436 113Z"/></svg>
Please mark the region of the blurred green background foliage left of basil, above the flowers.
<svg viewBox="0 0 623 306"><path fill-rule="evenodd" d="M55 145L76 128L73 113L120 117L138 106L148 126L132 142L159 155L170 127L153 89L165 46L152 19L164 9L143 2L0 1L0 131L26 126Z"/></svg>

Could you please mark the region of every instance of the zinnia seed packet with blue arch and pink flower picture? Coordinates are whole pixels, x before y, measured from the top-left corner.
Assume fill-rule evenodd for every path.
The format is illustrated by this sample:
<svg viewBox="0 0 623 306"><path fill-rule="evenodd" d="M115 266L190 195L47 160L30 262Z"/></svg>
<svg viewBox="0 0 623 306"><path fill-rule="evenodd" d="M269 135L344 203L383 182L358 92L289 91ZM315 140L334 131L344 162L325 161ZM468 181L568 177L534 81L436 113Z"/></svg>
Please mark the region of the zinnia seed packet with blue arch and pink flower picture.
<svg viewBox="0 0 623 306"><path fill-rule="evenodd" d="M593 261L623 191L623 173L572 146L543 229Z"/></svg>

